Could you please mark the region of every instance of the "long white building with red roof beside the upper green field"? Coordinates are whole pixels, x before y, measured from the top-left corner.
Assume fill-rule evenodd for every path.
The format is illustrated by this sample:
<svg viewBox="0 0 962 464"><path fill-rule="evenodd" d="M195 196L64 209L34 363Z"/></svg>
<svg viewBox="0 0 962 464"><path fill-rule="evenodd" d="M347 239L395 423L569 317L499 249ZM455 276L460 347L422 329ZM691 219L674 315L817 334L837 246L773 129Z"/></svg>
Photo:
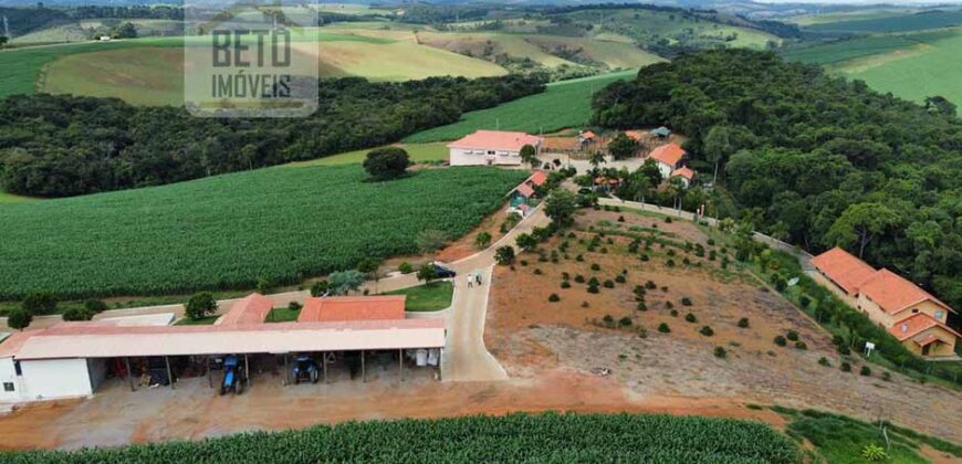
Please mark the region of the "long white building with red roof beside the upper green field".
<svg viewBox="0 0 962 464"><path fill-rule="evenodd" d="M525 133L478 130L448 144L451 166L520 166L521 148L541 151L544 139Z"/></svg>

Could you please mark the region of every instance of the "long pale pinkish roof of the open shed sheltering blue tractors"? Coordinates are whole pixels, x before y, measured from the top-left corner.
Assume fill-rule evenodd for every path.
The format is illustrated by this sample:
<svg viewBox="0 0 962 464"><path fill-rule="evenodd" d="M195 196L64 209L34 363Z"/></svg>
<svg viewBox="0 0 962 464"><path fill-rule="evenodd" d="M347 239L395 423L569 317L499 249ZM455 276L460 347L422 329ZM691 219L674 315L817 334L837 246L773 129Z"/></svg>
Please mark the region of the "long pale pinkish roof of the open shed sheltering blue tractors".
<svg viewBox="0 0 962 464"><path fill-rule="evenodd" d="M15 350L17 359L408 349L445 346L443 319L171 327L112 327L63 323L34 333Z"/></svg>

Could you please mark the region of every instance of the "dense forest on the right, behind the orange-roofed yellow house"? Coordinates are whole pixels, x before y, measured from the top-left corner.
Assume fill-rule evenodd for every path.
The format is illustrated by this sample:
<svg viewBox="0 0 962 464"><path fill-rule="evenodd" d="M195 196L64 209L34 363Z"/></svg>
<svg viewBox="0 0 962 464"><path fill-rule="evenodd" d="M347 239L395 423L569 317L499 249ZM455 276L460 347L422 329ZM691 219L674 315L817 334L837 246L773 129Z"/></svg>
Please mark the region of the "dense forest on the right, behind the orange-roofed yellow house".
<svg viewBox="0 0 962 464"><path fill-rule="evenodd" d="M719 50L646 67L594 104L602 126L689 136L702 179L718 169L710 209L813 253L841 245L962 308L962 122L944 98Z"/></svg>

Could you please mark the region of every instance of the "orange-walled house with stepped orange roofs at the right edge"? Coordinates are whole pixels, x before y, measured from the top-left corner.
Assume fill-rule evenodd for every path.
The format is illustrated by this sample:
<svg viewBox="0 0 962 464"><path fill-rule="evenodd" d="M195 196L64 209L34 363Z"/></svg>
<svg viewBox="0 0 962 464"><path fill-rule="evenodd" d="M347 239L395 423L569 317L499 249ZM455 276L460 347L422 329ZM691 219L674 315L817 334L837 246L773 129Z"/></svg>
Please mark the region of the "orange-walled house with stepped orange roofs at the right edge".
<svg viewBox="0 0 962 464"><path fill-rule="evenodd" d="M959 334L947 325L955 310L918 285L886 268L875 270L843 249L812 259L813 278L888 329L923 357L954 356Z"/></svg>

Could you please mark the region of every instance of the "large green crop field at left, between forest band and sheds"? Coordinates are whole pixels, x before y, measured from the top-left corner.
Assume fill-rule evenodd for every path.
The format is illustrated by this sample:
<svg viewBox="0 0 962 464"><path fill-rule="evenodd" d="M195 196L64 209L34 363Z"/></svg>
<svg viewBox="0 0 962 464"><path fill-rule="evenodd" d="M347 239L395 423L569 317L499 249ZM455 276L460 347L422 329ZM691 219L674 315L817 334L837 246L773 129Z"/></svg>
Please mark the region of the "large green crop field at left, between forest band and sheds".
<svg viewBox="0 0 962 464"><path fill-rule="evenodd" d="M164 187L0 208L0 300L296 284L366 256L454 239L527 176L460 168L368 181L359 166L266 168ZM56 270L56 272L51 272Z"/></svg>

